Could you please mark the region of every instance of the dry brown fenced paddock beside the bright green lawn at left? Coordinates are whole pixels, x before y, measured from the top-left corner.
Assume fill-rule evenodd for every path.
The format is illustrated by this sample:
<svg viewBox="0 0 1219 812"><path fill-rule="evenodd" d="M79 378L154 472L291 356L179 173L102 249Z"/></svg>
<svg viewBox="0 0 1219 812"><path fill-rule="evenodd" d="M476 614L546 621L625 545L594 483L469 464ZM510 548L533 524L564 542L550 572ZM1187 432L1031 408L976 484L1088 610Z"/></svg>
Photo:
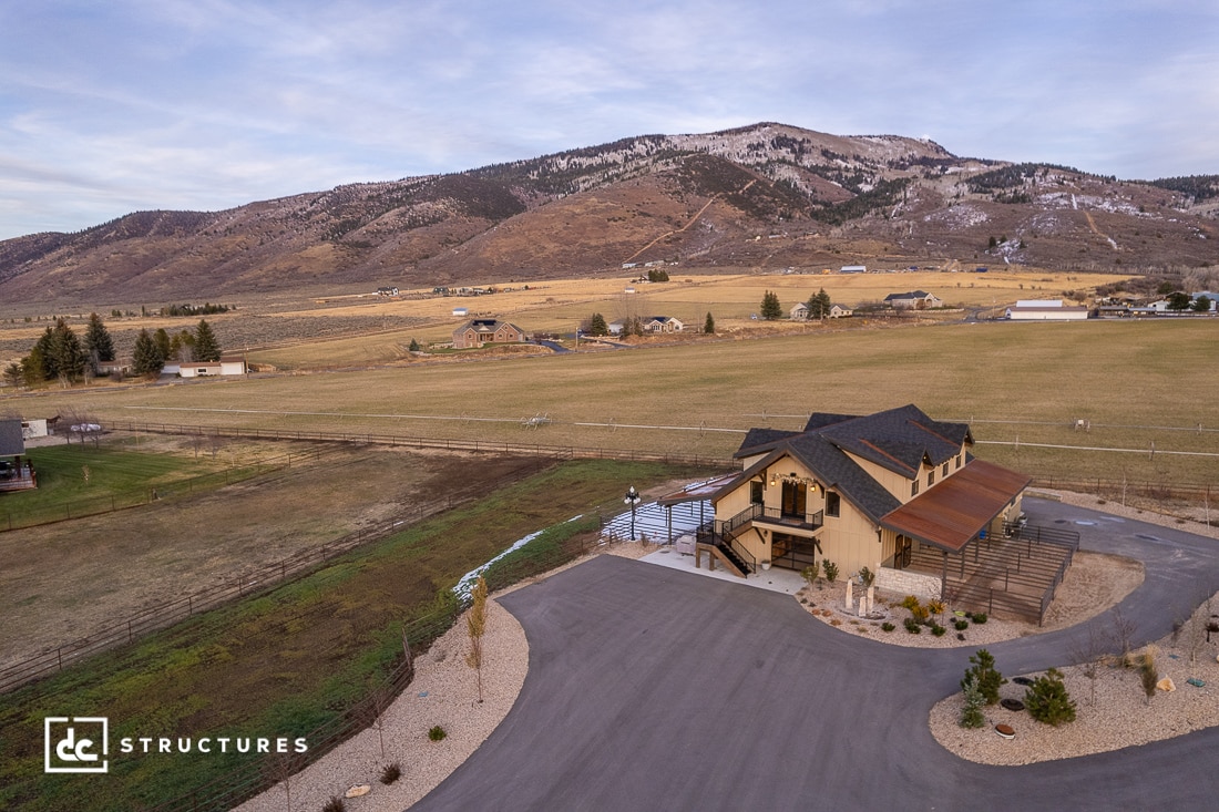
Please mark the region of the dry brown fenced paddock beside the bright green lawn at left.
<svg viewBox="0 0 1219 812"><path fill-rule="evenodd" d="M0 533L0 668L442 499L453 483L469 482L474 466L495 480L542 465L333 444L312 458L318 447L226 440L222 454L290 452L293 466L187 501ZM191 455L194 443L145 436L141 450Z"/></svg>

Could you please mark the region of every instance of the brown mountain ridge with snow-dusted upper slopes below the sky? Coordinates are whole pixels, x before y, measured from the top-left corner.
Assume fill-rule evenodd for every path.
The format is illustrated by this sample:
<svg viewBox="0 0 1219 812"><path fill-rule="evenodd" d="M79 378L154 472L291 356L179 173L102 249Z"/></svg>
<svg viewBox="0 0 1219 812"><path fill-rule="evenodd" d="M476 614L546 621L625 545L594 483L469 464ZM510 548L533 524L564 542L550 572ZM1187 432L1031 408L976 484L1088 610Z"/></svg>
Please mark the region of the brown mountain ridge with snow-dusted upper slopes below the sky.
<svg viewBox="0 0 1219 812"><path fill-rule="evenodd" d="M1118 182L783 124L644 135L221 212L0 241L0 299L162 302L680 267L1219 262L1219 177Z"/></svg>

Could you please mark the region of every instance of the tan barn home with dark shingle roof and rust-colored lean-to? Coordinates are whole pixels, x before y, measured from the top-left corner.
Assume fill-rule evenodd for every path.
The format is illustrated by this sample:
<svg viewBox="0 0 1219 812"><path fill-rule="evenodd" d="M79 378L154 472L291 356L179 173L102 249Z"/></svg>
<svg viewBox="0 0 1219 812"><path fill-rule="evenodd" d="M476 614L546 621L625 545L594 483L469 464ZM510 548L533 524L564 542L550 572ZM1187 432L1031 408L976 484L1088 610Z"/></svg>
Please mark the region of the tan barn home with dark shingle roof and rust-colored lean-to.
<svg viewBox="0 0 1219 812"><path fill-rule="evenodd" d="M947 572L950 555L963 560L1019 518L1031 482L973 458L973 443L968 424L915 406L814 413L802 432L751 429L735 455L741 472L711 497L714 527L701 541L746 575L762 562L798 571L823 558L844 575L891 573L919 547L942 554Z"/></svg>

